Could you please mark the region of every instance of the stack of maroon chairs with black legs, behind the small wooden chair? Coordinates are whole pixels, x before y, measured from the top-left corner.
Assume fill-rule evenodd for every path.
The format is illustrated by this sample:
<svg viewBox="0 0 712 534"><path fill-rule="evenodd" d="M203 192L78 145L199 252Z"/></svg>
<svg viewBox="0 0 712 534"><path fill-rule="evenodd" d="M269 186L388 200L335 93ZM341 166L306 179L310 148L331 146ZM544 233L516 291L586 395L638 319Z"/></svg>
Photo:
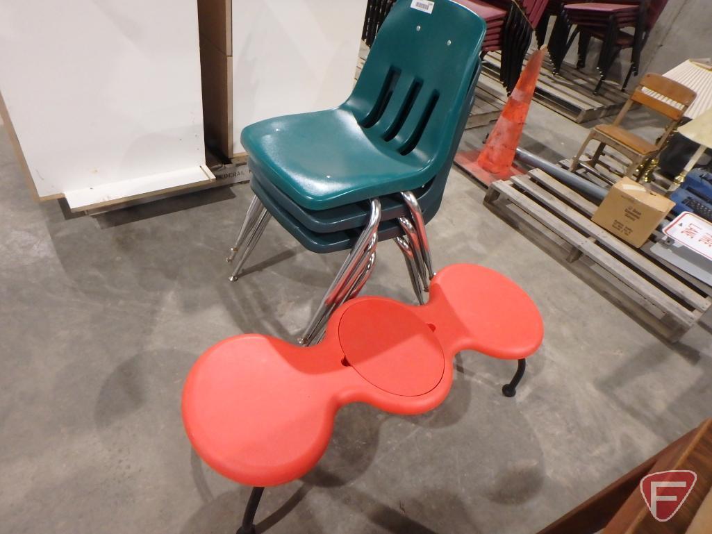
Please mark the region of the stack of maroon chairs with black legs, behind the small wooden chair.
<svg viewBox="0 0 712 534"><path fill-rule="evenodd" d="M601 77L594 94L598 93L603 81L619 53L624 48L631 49L628 73L621 86L628 85L631 75L638 74L642 49L668 0L607 0L606 2L579 2L562 6L562 14L550 38L550 54L558 70L563 63L573 38L579 35L577 68L585 66L588 43L591 38L602 41L598 56L598 70ZM570 33L570 28L575 31Z"/></svg>

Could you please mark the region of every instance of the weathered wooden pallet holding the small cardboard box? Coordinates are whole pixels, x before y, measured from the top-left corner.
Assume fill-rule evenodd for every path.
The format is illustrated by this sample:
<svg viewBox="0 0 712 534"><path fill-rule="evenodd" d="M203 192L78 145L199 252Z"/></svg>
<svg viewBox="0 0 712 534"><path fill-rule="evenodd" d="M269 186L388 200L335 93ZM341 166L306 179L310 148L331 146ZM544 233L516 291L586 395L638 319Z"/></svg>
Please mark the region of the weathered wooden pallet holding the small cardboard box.
<svg viewBox="0 0 712 534"><path fill-rule="evenodd" d="M671 342L712 305L695 283L594 224L597 206L540 169L494 182L485 204L533 238L548 236L550 251Z"/></svg>

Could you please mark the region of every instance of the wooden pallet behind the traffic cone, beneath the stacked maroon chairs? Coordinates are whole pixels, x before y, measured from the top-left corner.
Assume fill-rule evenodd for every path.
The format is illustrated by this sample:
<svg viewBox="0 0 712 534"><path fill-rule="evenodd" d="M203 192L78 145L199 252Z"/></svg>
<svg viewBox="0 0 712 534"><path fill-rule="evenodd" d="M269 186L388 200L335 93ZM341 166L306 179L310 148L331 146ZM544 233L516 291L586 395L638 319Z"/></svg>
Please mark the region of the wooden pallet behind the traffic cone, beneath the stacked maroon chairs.
<svg viewBox="0 0 712 534"><path fill-rule="evenodd" d="M500 67L501 52L491 52L485 56L482 72L489 78L499 80ZM576 70L568 63L562 65L559 75L554 75L553 68L550 58L546 57L534 92L534 100L574 122L587 122L615 115L628 99L628 95L610 81L605 81L600 93L594 95L597 76Z"/></svg>

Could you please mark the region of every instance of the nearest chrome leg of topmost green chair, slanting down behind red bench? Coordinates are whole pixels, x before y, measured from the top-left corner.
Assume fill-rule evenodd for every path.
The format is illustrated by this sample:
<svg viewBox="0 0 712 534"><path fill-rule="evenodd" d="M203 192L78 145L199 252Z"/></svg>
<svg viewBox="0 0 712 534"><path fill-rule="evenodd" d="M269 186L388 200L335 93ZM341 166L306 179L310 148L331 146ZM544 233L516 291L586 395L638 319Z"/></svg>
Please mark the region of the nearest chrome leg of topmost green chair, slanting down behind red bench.
<svg viewBox="0 0 712 534"><path fill-rule="evenodd" d="M310 342L313 341L318 334L318 327L323 323L324 317L328 317L333 311L337 296L342 293L347 283L350 281L353 283L353 280L355 280L355 272L357 272L358 266L362 263L366 252L369 251L370 246L375 246L375 244L372 244L372 241L374 241L374 237L376 241L378 239L378 225L380 222L381 203L378 199L371 199L371 214L368 223L361 232L346 261L344 261L338 273L336 273L334 281L326 291L319 308L304 330L302 337L298 339L300 345L309 345Z"/></svg>

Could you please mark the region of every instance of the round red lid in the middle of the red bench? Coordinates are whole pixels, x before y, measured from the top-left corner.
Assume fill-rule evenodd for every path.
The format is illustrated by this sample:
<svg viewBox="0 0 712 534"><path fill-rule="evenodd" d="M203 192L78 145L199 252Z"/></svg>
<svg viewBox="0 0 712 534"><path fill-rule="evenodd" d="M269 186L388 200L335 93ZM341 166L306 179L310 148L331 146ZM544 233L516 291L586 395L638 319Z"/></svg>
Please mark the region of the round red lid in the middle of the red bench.
<svg viewBox="0 0 712 534"><path fill-rule="evenodd" d="M445 360L431 327L400 303L355 303L341 318L339 340L346 362L389 393L422 395L443 376Z"/></svg>

